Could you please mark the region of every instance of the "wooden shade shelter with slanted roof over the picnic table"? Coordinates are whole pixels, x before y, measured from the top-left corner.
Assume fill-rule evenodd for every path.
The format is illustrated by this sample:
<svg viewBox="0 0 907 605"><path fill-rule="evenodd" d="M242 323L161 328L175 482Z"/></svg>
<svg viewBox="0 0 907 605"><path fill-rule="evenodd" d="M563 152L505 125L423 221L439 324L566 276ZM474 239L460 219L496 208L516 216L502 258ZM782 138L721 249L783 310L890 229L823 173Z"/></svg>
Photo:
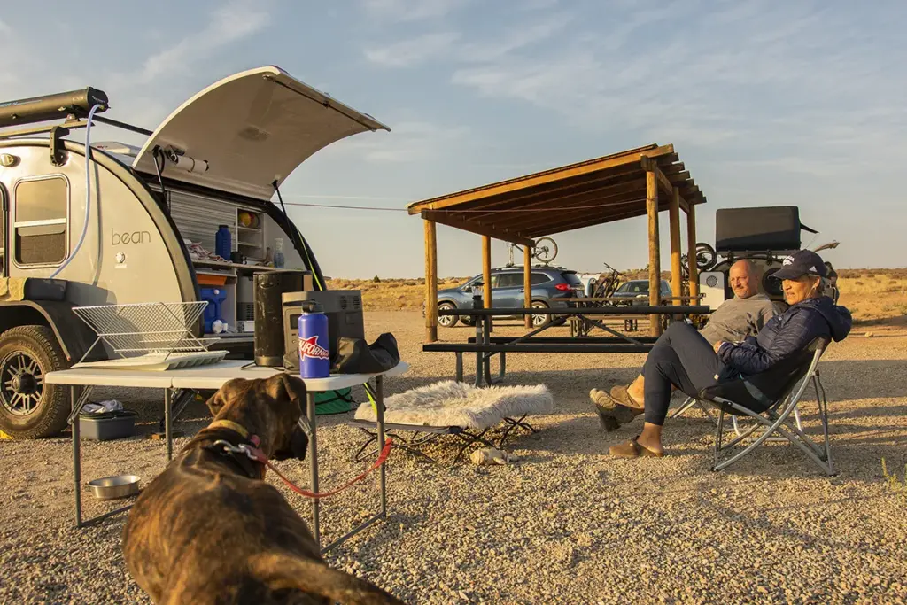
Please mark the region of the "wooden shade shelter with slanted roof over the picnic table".
<svg viewBox="0 0 907 605"><path fill-rule="evenodd" d="M706 196L679 161L673 145L652 144L509 181L416 201L407 209L424 219L425 338L437 340L436 224L483 236L485 307L492 306L491 239L524 249L526 307L532 306L534 239L615 220L649 216L649 302L657 306L660 281L658 212L670 218L671 289L680 297L680 210L687 213L688 249L696 249L697 204ZM690 296L697 296L695 253L688 254ZM654 317L657 319L657 317ZM526 318L527 325L531 321ZM660 322L653 322L656 333Z"/></svg>

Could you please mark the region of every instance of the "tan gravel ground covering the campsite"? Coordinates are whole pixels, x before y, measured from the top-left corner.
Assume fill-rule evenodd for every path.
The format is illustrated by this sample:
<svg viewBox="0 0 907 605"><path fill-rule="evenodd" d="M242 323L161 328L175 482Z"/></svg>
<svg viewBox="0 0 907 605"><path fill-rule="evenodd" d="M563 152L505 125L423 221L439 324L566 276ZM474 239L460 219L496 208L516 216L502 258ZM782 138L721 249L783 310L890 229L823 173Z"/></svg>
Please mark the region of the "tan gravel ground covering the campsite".
<svg viewBox="0 0 907 605"><path fill-rule="evenodd" d="M372 337L392 331L412 365L387 380L388 393L453 376L452 356L421 351L420 314L373 313L366 322ZM469 334L459 327L441 336ZM395 452L389 519L327 560L414 603L907 602L907 493L892 492L881 466L884 457L902 473L907 463L905 358L907 333L877 327L872 338L854 330L826 354L840 470L828 478L785 444L711 473L711 424L698 412L669 421L668 457L611 458L608 447L636 434L641 420L604 434L588 393L629 380L643 356L513 356L508 384L549 385L557 410L533 420L540 433L512 441L518 460L450 469ZM144 433L161 414L153 392L96 395L138 411ZM803 409L814 433L814 404ZM351 416L319 417L323 487L365 466L351 462L360 443L345 425ZM176 428L194 434L207 422L204 405L193 404ZM0 442L0 602L148 602L122 561L125 515L73 529L70 443ZM454 452L438 445L429 453L449 461ZM83 478L136 473L146 484L164 461L160 441L86 442ZM307 466L280 464L305 484ZM376 481L324 503L327 540L375 510ZM308 514L307 501L284 492ZM87 491L83 498L88 514L112 508Z"/></svg>

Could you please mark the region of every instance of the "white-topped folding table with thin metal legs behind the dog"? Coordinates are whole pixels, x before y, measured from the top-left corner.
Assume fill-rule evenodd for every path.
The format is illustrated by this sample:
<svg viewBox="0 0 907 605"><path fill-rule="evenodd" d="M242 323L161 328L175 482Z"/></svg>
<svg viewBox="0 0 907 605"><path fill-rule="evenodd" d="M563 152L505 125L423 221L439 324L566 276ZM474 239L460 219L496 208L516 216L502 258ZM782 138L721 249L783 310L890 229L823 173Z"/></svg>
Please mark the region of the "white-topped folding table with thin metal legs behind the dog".
<svg viewBox="0 0 907 605"><path fill-rule="evenodd" d="M307 389L306 416L308 424L311 427L308 441L308 461L311 470L312 491L318 491L318 459L317 459L317 415L315 411L315 394L337 389L347 388L350 386L362 385L375 379L375 395L377 406L377 418L379 423L379 443L382 447L385 444L384 432L384 377L398 376L404 374L409 369L405 362L400 362L394 368L380 374L341 374L333 375L327 378L307 378L304 380ZM279 374L283 370L269 367L259 367L251 365L246 360L239 361L221 361L211 366L198 366L177 370L141 370L139 368L111 369L101 367L79 367L69 370L60 370L50 372L44 376L44 382L49 385L69 385L72 397L72 414L70 421L73 424L73 485L75 487L75 522L76 527L83 527L92 522L98 522L119 512L127 511L132 505L119 508L112 512L107 512L93 519L83 521L82 518L82 446L79 435L78 414L82 410L85 402L95 386L119 386L132 388L160 388L164 391L164 424L167 439L167 460L173 458L173 442L171 434L171 401L172 391L174 389L219 389L224 383L233 378L268 378ZM85 389L81 396L76 396L76 387L84 386ZM328 544L321 551L325 552L335 547L346 539L364 530L378 519L385 518L387 514L387 497L386 497L386 477L385 464L380 469L380 493L381 493L381 511L377 512L366 522L361 523L351 532L338 538L335 542ZM312 499L312 520L313 532L318 544L321 543L321 533L319 527L319 502L317 498Z"/></svg>

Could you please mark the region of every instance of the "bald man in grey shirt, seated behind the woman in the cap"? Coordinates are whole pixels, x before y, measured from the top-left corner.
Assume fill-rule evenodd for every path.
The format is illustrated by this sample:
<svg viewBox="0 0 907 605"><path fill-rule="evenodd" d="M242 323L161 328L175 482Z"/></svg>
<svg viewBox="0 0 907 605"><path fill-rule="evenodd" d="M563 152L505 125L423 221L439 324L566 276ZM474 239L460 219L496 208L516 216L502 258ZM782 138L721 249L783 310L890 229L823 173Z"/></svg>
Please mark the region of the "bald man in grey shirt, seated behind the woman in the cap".
<svg viewBox="0 0 907 605"><path fill-rule="evenodd" d="M723 302L708 318L706 327L699 330L699 334L712 346L719 340L738 342L750 335L758 334L766 321L782 310L764 293L759 292L761 276L751 261L737 260L731 265L727 278L734 291L734 298ZM610 410L617 404L630 405L630 402L641 401L645 385L645 378L640 373L629 386L615 386L610 394L593 388L589 395L598 410ZM618 416L615 419L612 415L600 414L601 423L606 431L617 428L621 419L624 422L632 419L632 416L626 414Z"/></svg>

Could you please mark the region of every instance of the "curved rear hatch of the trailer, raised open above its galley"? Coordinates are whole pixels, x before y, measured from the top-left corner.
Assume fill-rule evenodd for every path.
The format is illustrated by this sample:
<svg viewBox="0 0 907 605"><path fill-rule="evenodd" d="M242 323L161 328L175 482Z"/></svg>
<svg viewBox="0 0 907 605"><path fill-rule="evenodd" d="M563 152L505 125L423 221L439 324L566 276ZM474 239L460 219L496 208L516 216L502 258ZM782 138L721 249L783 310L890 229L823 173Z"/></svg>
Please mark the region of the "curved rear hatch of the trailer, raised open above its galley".
<svg viewBox="0 0 907 605"><path fill-rule="evenodd" d="M258 200L309 156L359 132L374 118L301 83L278 67L237 73L184 102L141 147L132 167ZM163 155L155 150L163 151Z"/></svg>

